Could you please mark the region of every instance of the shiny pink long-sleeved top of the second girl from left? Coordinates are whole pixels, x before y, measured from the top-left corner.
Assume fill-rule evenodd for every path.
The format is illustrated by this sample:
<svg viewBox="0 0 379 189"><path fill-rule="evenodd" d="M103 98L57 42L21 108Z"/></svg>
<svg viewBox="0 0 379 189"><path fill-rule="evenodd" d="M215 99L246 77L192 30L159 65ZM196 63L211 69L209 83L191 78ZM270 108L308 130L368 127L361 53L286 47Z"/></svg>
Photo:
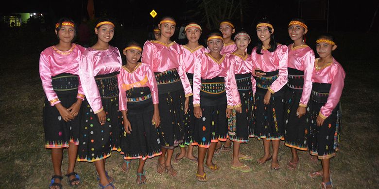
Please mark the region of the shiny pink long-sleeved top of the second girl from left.
<svg viewBox="0 0 379 189"><path fill-rule="evenodd" d="M84 94L94 113L103 110L95 76L119 72L122 60L117 47L109 46L106 50L87 48L79 62L79 76Z"/></svg>

